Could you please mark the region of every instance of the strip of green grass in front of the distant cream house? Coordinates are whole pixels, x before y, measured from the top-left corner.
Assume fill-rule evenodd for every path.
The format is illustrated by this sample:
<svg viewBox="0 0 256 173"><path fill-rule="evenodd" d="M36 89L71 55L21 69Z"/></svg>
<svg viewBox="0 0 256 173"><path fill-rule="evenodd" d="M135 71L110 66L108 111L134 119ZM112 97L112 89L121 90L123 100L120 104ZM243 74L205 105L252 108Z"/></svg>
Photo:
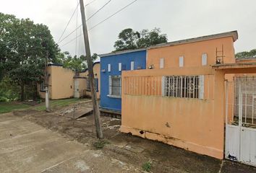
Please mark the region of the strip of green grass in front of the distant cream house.
<svg viewBox="0 0 256 173"><path fill-rule="evenodd" d="M71 105L73 103L81 102L83 99L56 99L51 100L50 105L51 109L56 109L59 107L65 107ZM0 114L6 112L12 112L13 110L25 110L25 109L33 109L33 110L46 110L46 106L44 102L41 102L38 105L31 106L25 105L22 102L0 102Z"/></svg>

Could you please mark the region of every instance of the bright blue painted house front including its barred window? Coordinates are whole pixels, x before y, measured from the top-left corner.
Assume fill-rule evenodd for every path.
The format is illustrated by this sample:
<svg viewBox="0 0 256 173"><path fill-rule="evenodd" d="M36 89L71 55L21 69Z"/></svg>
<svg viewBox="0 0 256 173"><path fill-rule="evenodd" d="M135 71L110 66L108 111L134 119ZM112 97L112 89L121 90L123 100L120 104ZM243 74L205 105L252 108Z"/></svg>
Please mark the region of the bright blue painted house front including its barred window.
<svg viewBox="0 0 256 173"><path fill-rule="evenodd" d="M101 108L121 112L121 71L146 68L146 49L124 50L101 57Z"/></svg>

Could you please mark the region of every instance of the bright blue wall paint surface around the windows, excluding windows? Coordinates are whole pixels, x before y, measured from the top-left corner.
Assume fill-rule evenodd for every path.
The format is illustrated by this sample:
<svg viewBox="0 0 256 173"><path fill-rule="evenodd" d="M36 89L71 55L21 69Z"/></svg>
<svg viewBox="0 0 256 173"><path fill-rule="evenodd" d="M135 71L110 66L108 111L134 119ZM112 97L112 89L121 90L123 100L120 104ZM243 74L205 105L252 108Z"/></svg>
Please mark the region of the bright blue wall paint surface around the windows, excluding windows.
<svg viewBox="0 0 256 173"><path fill-rule="evenodd" d="M121 76L119 63L122 71L131 69L131 61L135 62L135 70L140 67L146 68L146 50L132 53L123 53L112 56L101 57L101 107L108 110L121 111L121 98L108 97L108 78L109 76ZM111 64L111 71L108 72L108 63ZM105 70L105 72L103 72Z"/></svg>

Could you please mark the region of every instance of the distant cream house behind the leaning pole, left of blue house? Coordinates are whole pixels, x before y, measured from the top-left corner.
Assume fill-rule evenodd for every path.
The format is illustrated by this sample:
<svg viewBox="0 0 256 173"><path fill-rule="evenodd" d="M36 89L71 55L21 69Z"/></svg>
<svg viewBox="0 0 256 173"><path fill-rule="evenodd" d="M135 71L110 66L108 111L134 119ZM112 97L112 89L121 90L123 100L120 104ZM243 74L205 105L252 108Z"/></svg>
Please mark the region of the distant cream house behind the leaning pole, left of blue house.
<svg viewBox="0 0 256 173"><path fill-rule="evenodd" d="M98 99L101 96L100 68L100 62L93 63L95 90ZM64 68L61 64L50 63L47 72L50 99L91 97L88 69L76 73L69 68ZM45 81L38 84L38 93L41 98L46 97Z"/></svg>

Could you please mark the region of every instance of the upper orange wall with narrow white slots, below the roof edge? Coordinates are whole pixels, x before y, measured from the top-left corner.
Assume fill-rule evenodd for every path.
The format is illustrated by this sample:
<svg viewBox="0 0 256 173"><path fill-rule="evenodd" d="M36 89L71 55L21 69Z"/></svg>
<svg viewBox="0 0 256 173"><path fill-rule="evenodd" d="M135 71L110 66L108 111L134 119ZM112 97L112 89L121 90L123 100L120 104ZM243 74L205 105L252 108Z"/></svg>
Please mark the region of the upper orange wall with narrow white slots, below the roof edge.
<svg viewBox="0 0 256 173"><path fill-rule="evenodd" d="M235 63L233 38L223 37L197 43L149 49L147 67L154 65L154 68L160 68L160 58L164 58L164 68L179 67L179 56L184 56L184 67L200 67L202 66L202 53L207 53L208 66L210 66L216 63L216 48L221 50L222 45L224 47L224 63Z"/></svg>

